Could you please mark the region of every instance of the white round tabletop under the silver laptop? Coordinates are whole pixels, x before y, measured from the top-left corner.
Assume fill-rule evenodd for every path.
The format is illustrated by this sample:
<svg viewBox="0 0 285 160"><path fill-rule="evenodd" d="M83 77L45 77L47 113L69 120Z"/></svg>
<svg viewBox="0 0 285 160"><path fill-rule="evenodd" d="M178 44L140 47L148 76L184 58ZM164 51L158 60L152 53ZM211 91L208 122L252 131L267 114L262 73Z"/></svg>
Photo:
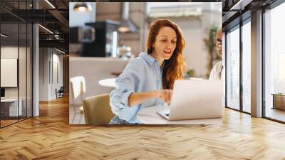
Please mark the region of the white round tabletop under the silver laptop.
<svg viewBox="0 0 285 160"><path fill-rule="evenodd" d="M194 119L194 120L181 120L181 121L168 121L159 114L157 111L165 109L167 106L150 106L138 111L137 119L142 124L218 124L222 125L222 118L219 119Z"/></svg>

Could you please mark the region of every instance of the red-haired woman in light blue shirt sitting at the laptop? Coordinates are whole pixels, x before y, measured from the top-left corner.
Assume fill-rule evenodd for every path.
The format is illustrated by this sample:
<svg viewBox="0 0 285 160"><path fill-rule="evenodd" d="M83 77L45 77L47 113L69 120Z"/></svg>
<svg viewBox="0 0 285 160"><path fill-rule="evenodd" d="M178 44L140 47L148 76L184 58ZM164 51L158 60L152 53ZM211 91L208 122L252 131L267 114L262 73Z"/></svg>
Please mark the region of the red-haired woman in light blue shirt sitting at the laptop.
<svg viewBox="0 0 285 160"><path fill-rule="evenodd" d="M150 26L147 53L130 61L115 81L110 106L115 114L109 124L139 124L140 109L170 104L173 84L182 79L185 39L180 28L168 19Z"/></svg>

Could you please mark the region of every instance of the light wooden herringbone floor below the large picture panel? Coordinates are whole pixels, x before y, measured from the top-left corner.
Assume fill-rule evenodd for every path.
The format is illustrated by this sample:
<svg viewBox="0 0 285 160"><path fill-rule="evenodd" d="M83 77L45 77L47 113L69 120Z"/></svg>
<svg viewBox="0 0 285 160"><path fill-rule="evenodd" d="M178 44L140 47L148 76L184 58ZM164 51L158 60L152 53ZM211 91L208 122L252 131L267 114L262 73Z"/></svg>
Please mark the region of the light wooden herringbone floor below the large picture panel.
<svg viewBox="0 0 285 160"><path fill-rule="evenodd" d="M222 126L71 126L68 99L0 129L0 159L285 159L285 125L225 109Z"/></svg>

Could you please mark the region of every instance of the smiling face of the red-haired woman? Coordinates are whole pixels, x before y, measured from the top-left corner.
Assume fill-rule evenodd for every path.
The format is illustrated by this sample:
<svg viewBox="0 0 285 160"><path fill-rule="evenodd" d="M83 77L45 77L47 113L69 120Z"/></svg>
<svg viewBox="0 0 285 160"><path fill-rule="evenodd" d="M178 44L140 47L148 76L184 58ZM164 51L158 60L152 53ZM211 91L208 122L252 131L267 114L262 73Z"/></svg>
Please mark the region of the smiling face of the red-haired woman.
<svg viewBox="0 0 285 160"><path fill-rule="evenodd" d="M175 30L164 26L158 32L155 43L152 45L154 51L152 56L156 59L170 59L176 47L177 36Z"/></svg>

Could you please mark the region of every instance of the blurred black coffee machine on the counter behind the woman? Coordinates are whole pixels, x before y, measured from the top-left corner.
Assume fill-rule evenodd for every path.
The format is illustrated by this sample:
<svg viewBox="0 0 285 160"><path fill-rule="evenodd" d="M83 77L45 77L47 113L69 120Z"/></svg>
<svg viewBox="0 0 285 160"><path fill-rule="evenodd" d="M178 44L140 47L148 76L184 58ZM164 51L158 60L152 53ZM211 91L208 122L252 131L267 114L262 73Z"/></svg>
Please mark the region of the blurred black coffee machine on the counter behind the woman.
<svg viewBox="0 0 285 160"><path fill-rule="evenodd" d="M76 51L79 56L116 57L119 24L118 21L107 20L72 27L70 43L80 44L81 49Z"/></svg>

